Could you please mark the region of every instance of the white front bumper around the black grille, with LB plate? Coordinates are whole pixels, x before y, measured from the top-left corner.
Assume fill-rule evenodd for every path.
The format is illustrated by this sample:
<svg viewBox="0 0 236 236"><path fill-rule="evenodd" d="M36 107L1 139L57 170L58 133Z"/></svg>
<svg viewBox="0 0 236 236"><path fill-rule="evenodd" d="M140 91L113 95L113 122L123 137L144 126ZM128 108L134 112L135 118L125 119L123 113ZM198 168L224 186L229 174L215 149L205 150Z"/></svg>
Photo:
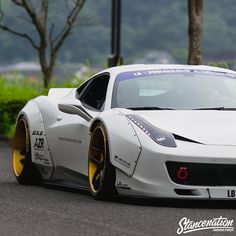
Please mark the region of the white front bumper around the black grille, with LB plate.
<svg viewBox="0 0 236 236"><path fill-rule="evenodd" d="M140 197L178 199L228 199L236 200L236 172L227 173L223 179L205 170L204 176L192 184L174 181L168 173L166 163L193 163L236 168L236 146L202 145L177 141L177 148L162 147L149 139L142 140L142 152L134 174L128 177L117 170L116 187L120 194ZM199 167L199 166L198 166ZM230 167L230 168L231 168ZM203 170L203 169L202 169ZM198 168L199 176L201 168ZM213 171L214 172L214 171ZM217 171L216 171L217 172ZM224 173L224 171L222 172ZM231 176L230 176L231 175ZM230 179L234 178L235 179Z"/></svg>

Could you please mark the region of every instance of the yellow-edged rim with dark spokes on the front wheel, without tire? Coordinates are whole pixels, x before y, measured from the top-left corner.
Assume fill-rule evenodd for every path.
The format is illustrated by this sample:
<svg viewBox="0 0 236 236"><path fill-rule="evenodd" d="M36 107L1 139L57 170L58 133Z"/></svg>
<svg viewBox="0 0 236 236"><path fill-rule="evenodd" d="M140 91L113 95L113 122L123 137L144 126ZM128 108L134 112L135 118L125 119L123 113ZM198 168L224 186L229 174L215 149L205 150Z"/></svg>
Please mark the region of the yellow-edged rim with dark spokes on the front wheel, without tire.
<svg viewBox="0 0 236 236"><path fill-rule="evenodd" d="M88 158L89 184L93 193L102 186L106 166L106 134L102 126L97 126L91 137Z"/></svg>

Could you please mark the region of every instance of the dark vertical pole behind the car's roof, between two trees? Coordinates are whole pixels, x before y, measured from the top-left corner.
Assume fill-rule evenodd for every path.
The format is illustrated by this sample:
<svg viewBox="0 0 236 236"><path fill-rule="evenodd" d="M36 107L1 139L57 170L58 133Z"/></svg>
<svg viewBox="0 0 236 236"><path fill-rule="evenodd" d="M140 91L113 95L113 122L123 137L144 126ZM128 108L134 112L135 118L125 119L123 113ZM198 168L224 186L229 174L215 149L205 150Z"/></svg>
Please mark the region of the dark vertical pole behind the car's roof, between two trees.
<svg viewBox="0 0 236 236"><path fill-rule="evenodd" d="M112 0L111 54L108 57L109 67L122 64L122 57L120 56L121 1Z"/></svg>

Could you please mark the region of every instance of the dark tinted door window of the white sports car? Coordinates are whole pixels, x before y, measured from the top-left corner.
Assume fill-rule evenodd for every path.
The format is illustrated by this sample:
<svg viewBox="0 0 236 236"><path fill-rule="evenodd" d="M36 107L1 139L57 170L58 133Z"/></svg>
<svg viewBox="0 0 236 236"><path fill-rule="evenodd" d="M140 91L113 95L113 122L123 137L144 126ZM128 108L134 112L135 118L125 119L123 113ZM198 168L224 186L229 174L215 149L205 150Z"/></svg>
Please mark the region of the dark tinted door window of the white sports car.
<svg viewBox="0 0 236 236"><path fill-rule="evenodd" d="M93 79L80 100L85 105L101 110L106 98L109 75L100 75Z"/></svg>

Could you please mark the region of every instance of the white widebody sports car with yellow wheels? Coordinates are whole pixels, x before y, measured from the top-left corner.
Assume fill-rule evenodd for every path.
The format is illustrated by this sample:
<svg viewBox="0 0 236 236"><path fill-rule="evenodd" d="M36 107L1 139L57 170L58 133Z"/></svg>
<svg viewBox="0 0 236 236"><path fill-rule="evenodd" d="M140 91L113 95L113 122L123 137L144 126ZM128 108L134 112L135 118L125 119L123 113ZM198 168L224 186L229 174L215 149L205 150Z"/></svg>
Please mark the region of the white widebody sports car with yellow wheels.
<svg viewBox="0 0 236 236"><path fill-rule="evenodd" d="M131 65L51 89L19 113L12 156L20 184L96 199L236 199L236 73Z"/></svg>

